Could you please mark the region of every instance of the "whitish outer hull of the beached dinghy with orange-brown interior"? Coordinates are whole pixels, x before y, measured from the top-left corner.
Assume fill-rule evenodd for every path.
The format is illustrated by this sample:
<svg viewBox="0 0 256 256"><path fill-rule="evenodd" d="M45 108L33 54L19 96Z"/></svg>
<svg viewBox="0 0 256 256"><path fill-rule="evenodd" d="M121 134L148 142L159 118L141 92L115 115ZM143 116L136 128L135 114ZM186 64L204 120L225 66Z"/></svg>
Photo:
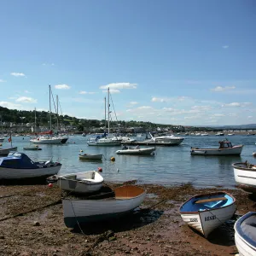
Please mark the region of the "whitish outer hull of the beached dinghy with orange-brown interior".
<svg viewBox="0 0 256 256"><path fill-rule="evenodd" d="M87 223L118 217L131 212L144 200L143 192L129 199L104 200L62 200L64 222L68 228L74 228L78 222Z"/></svg>

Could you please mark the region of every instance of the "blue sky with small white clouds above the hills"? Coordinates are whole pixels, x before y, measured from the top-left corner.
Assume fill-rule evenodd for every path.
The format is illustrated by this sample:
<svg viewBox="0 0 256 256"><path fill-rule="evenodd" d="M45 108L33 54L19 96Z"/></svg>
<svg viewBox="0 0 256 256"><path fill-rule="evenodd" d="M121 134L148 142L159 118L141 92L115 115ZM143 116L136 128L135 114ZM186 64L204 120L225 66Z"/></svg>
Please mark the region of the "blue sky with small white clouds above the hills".
<svg viewBox="0 0 256 256"><path fill-rule="evenodd" d="M170 125L256 123L253 0L3 0L0 106Z"/></svg>

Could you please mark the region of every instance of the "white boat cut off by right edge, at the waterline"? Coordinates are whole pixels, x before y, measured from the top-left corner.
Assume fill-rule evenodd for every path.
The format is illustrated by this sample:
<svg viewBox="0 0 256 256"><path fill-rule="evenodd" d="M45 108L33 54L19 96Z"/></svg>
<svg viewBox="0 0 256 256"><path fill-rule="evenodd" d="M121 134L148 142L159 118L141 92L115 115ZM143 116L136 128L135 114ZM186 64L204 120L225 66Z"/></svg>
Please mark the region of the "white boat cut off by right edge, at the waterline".
<svg viewBox="0 0 256 256"><path fill-rule="evenodd" d="M256 192L256 166L247 161L232 166L238 186L247 192Z"/></svg>

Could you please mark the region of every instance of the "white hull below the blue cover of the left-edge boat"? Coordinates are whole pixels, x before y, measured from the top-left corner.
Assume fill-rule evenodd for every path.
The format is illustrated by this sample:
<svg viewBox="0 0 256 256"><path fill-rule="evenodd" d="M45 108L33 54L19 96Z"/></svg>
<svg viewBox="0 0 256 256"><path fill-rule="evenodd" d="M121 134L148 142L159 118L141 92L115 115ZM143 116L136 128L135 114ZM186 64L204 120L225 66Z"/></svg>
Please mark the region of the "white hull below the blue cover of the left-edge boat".
<svg viewBox="0 0 256 256"><path fill-rule="evenodd" d="M36 169L13 169L0 167L0 179L45 177L57 174L60 171L60 169L61 165Z"/></svg>

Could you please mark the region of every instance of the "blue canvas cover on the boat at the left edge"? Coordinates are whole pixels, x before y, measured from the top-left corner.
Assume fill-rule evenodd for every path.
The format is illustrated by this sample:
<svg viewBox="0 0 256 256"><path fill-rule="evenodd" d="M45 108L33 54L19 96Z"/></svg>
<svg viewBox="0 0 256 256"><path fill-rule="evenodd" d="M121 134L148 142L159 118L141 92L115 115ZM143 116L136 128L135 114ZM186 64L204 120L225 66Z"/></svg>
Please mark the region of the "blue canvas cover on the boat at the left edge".
<svg viewBox="0 0 256 256"><path fill-rule="evenodd" d="M36 169L38 166L24 153L10 152L0 158L0 167L13 169Z"/></svg>

